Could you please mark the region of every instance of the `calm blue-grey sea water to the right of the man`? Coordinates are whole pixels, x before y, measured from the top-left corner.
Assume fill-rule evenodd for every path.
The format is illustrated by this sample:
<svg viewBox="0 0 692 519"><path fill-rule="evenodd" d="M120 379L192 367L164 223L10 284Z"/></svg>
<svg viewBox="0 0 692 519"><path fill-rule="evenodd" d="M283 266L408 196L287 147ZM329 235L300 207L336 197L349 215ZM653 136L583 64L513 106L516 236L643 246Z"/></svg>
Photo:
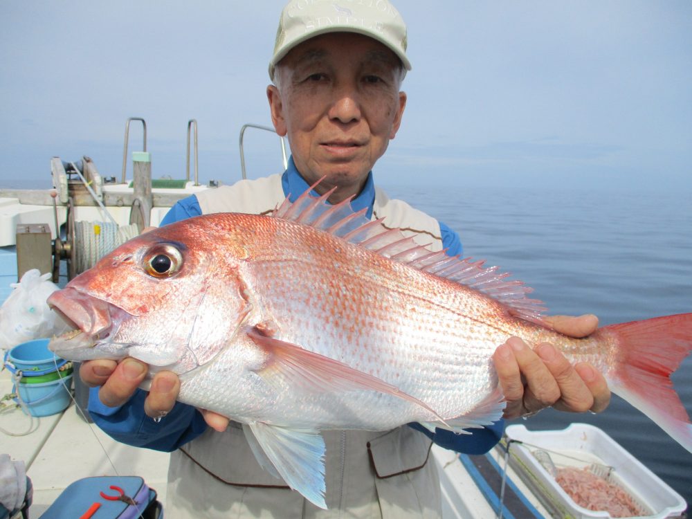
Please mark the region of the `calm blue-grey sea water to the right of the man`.
<svg viewBox="0 0 692 519"><path fill-rule="evenodd" d="M608 325L692 312L692 192L385 187L457 230L464 255L532 286L550 313L595 313ZM692 415L692 356L673 383ZM619 397L601 415L545 410L518 423L572 421L603 428L692 503L692 454Z"/></svg>

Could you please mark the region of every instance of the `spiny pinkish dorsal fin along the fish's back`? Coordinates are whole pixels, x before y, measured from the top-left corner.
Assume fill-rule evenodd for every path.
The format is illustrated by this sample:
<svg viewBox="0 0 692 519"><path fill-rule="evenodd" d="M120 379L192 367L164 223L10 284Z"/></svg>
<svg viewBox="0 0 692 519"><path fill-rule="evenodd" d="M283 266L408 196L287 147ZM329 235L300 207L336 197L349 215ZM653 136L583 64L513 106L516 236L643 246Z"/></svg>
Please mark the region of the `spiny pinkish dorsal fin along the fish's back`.
<svg viewBox="0 0 692 519"><path fill-rule="evenodd" d="M387 228L383 218L367 219L366 209L354 212L351 208L353 197L331 206L327 199L336 188L320 197L310 194L320 181L322 179L311 185L295 202L286 197L272 216L318 228L419 271L463 284L502 302L511 315L545 325L540 318L540 313L546 310L543 302L527 298L533 289L521 281L506 280L509 273L498 272L497 266L484 267L484 262L474 262L470 257L462 260L448 256L446 251L430 251L428 246L417 244L400 229Z"/></svg>

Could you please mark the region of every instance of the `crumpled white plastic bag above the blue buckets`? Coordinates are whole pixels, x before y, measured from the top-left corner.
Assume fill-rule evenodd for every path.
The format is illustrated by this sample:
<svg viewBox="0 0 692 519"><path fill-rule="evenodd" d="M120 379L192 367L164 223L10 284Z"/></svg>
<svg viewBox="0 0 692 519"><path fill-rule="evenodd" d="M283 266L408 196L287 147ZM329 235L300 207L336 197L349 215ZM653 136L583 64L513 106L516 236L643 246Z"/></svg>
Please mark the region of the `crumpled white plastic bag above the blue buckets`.
<svg viewBox="0 0 692 519"><path fill-rule="evenodd" d="M69 329L66 322L46 303L57 285L37 268L26 271L0 307L0 348L10 349L27 340L51 337Z"/></svg>

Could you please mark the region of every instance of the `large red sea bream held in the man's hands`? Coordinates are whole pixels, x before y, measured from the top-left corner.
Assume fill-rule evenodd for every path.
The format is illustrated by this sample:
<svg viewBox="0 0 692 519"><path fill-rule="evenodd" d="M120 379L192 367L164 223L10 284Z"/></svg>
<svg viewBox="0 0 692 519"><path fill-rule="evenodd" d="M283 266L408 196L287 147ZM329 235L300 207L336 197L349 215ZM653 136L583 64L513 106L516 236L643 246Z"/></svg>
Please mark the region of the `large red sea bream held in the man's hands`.
<svg viewBox="0 0 692 519"><path fill-rule="evenodd" d="M541 325L520 282L431 253L327 196L132 239L51 295L80 330L51 349L176 372L181 401L244 424L260 464L320 507L320 430L490 424L504 408L491 356L510 336L594 364L692 451L669 379L690 352L692 313L566 337Z"/></svg>

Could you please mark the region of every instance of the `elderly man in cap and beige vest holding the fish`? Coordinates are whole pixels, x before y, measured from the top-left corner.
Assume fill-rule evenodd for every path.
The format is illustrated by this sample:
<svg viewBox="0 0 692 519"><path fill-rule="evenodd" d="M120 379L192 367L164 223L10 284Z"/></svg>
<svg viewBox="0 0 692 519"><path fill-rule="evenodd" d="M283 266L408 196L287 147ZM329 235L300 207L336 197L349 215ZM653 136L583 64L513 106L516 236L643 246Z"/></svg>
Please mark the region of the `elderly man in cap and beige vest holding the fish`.
<svg viewBox="0 0 692 519"><path fill-rule="evenodd" d="M176 204L163 223L211 212L270 212L324 177L316 190L336 187L330 203L354 197L385 224L410 230L432 248L461 253L455 233L374 187L372 168L401 125L406 93L406 26L385 0L342 3L293 0L283 10L267 88L274 127L288 136L288 170L256 181L209 190ZM597 320L552 318L563 333L583 336ZM506 418L547 406L584 412L603 410L610 392L603 376L586 364L572 366L554 347L532 349L518 338L494 357L507 399ZM166 516L221 517L438 517L439 482L428 462L431 441L470 453L489 450L502 424L473 435L435 434L403 426L391 431L328 431L325 459L328 510L291 491L255 460L242 428L226 417L176 403L180 382L170 372L137 389L147 372L128 358L84 363L82 379L93 386L89 409L96 423L129 444L172 450ZM154 419L152 419L154 418Z"/></svg>

